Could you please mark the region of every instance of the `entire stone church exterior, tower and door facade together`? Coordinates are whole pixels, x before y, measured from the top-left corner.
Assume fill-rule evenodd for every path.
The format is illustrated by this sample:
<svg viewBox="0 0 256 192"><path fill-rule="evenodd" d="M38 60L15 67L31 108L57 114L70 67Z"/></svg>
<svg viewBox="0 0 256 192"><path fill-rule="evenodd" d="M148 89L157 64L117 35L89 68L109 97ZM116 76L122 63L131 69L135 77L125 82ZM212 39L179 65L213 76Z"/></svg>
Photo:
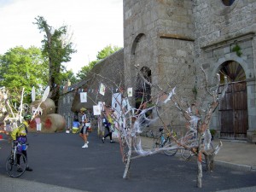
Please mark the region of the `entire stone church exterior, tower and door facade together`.
<svg viewBox="0 0 256 192"><path fill-rule="evenodd" d="M166 83L177 86L181 99L196 99L207 106L211 97L202 89L206 79L201 67L208 84L214 85L221 64L236 61L246 73L249 136L256 130L255 8L253 0L236 0L231 6L222 0L125 0L124 57L125 73L129 74L125 83L136 84L135 66L148 67L153 84L164 90ZM242 55L232 50L236 44ZM191 93L194 88L196 95ZM158 90L151 91L154 95ZM169 112L165 119L171 116L173 125L182 126L180 113L173 106ZM216 110L211 127L219 129L218 119Z"/></svg>

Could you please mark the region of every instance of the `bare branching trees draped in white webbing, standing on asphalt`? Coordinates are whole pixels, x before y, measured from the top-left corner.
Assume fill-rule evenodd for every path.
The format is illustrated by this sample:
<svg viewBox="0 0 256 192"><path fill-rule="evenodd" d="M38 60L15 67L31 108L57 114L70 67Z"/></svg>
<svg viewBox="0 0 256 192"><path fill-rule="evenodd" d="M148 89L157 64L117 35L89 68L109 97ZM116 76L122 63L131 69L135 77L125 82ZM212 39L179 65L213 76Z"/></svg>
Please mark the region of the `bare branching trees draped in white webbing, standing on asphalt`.
<svg viewBox="0 0 256 192"><path fill-rule="evenodd" d="M181 89L178 91L178 94L176 93L178 89L173 83L168 84L165 88L161 88L160 84L152 83L151 80L144 75L145 71L139 68L139 65L135 67L137 69L137 75L140 78L140 84L143 84L143 89L137 89L136 86L133 86L132 89L137 90L137 93L132 94L131 92L129 93L131 87L125 87L123 82L117 83L102 74L94 73L93 75L93 77L95 77L93 80L94 84L96 84L96 82L98 84L104 82L107 90L112 95L117 92L120 95L119 98L115 98L115 103L119 110L115 110L114 113L112 111L113 108L105 108L105 110L112 115L113 121L115 122L115 129L118 131L120 152L123 162L125 163L123 178L130 176L131 160L166 150L183 149L189 150L197 157L197 186L201 188L202 155L206 158L207 170L212 171L214 156L218 153L222 145L219 143L216 148L209 148L211 142L209 125L212 113L214 113L214 110L218 107L219 101L224 97L225 91L227 90L226 80L224 89L219 93L219 75L217 75L216 84L210 87L207 81L207 75L201 68L201 74L203 74L205 82L205 84L201 86L201 91L205 92L204 96L207 96L207 99L201 97L201 100L206 99L206 101L189 103L187 102L188 100L186 100L186 95L182 95L183 92L180 91ZM125 74L122 75L125 77ZM124 79L126 81L128 80L126 78ZM148 87L152 90L154 88L154 91L148 91ZM148 92L150 92L150 96L148 96ZM134 98L136 94L139 95L139 99ZM95 92L94 96L90 96L90 99L93 100L95 104L101 101L98 92ZM176 111L175 113L182 116L184 121L187 122L187 128L184 129L185 131L176 130L176 132L182 132L183 134L174 135L172 130L168 129L169 122L166 122L165 117L167 116L167 119L176 118L172 117L173 113L169 113L170 106L173 107L172 111ZM155 129L159 126L164 128L173 142L161 148L144 148L142 145L143 131L147 131L148 127ZM188 132L193 135L193 137L185 134Z"/></svg>

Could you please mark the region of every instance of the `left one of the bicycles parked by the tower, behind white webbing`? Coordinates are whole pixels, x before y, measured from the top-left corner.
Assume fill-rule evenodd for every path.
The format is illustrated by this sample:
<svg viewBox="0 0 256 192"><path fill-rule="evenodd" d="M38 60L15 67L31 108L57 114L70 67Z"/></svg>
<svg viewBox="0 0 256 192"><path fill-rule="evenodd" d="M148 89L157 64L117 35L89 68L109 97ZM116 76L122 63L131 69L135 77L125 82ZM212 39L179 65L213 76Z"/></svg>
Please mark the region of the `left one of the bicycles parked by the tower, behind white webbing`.
<svg viewBox="0 0 256 192"><path fill-rule="evenodd" d="M166 134L167 137L165 137L163 127L159 128L159 133L160 135L158 137L155 137L153 131L150 131L151 137L154 138L153 148L172 147L173 143L172 143L171 136L176 136L176 133L172 130L171 133L167 133ZM166 149L166 150L163 150L163 152L167 156L173 156L174 154L177 153L177 148Z"/></svg>

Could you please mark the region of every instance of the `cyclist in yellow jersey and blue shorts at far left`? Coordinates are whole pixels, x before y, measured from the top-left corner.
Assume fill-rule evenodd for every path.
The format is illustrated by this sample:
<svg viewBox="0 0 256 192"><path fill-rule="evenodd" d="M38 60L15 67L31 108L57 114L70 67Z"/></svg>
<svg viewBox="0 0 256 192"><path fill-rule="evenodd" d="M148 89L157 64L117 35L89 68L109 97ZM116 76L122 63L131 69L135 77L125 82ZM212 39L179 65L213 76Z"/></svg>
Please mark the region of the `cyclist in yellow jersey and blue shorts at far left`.
<svg viewBox="0 0 256 192"><path fill-rule="evenodd" d="M15 145L17 145L17 143L20 143L22 146L22 154L24 154L26 156L26 142L27 142L27 138L26 138L26 134L27 134L27 128L30 124L30 121L32 119L32 116L30 114L26 114L24 116L24 121L20 124L19 127L17 127L14 131L11 132L10 136L13 139L13 143ZM20 157L19 154L17 154L18 156L18 164L20 162ZM26 156L27 158L27 156ZM30 168L28 165L26 166L26 171L32 172L32 168ZM22 170L18 169L18 172L22 172Z"/></svg>

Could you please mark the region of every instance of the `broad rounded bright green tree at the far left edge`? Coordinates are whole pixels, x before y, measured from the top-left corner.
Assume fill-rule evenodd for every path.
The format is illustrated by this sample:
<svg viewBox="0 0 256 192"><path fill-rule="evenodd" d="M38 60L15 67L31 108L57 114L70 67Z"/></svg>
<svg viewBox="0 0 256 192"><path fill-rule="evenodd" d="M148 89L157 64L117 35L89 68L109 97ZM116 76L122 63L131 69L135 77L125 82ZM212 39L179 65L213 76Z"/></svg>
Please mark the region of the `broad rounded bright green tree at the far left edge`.
<svg viewBox="0 0 256 192"><path fill-rule="evenodd" d="M30 103L32 86L38 88L38 85L46 85L47 75L47 63L41 50L36 47L15 47L0 55L0 86L9 90L11 102L19 104L24 88L24 102Z"/></svg>

